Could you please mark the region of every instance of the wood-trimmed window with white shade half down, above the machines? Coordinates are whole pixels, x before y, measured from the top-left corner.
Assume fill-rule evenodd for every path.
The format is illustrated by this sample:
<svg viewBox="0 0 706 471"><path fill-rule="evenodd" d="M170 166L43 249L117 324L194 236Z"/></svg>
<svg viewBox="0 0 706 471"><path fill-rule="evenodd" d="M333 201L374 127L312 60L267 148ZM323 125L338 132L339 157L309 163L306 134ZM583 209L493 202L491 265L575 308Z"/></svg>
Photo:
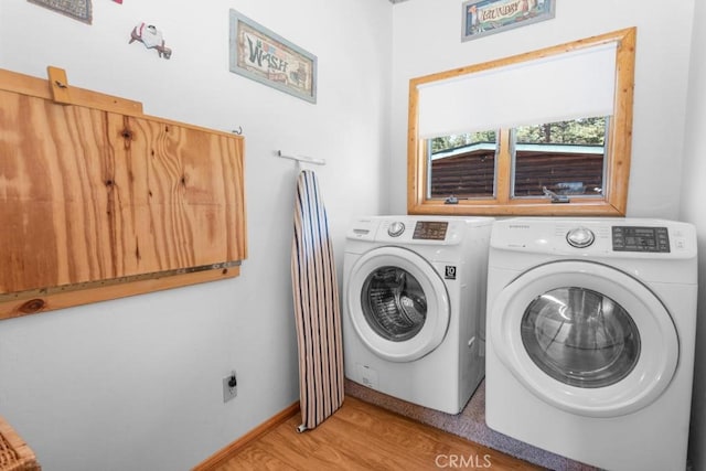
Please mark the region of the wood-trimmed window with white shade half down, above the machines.
<svg viewBox="0 0 706 471"><path fill-rule="evenodd" d="M625 214L635 29L410 81L410 214Z"/></svg>

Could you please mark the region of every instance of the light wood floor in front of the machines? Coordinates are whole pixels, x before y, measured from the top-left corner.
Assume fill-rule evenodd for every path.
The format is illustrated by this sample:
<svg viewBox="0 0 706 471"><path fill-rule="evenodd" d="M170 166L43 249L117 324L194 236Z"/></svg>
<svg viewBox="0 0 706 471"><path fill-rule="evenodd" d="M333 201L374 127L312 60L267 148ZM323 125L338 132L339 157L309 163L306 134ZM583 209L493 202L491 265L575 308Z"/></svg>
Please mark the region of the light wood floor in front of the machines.
<svg viewBox="0 0 706 471"><path fill-rule="evenodd" d="M297 414L217 471L542 469L354 397L313 430L298 433L300 422Z"/></svg>

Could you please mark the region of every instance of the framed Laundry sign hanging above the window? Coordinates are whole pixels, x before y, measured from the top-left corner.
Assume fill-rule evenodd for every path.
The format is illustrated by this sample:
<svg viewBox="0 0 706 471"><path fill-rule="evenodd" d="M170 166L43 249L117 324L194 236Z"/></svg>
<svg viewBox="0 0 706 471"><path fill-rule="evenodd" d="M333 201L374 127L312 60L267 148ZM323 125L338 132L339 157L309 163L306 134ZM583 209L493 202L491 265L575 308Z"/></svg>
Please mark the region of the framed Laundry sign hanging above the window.
<svg viewBox="0 0 706 471"><path fill-rule="evenodd" d="M554 18L556 0L470 0L463 2L461 41Z"/></svg>

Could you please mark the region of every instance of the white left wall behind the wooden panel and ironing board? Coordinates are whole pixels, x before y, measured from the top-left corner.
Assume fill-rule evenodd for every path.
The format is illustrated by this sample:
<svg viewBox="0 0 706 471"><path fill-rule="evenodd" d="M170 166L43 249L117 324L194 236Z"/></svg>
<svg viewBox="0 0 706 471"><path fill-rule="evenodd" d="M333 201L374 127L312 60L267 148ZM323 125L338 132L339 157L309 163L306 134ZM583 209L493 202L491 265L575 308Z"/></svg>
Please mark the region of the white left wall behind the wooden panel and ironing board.
<svg viewBox="0 0 706 471"><path fill-rule="evenodd" d="M46 470L184 470L298 400L289 257L297 165L320 174L342 268L349 221L381 212L389 146L391 3L94 0L93 25L0 2L0 67L143 103L145 113L246 137L249 256L242 276L0 321L0 415ZM234 8L319 61L318 104L228 71ZM156 24L171 60L128 44ZM0 156L1 158L1 156ZM341 278L339 278L341 279ZM235 368L238 397L223 404Z"/></svg>

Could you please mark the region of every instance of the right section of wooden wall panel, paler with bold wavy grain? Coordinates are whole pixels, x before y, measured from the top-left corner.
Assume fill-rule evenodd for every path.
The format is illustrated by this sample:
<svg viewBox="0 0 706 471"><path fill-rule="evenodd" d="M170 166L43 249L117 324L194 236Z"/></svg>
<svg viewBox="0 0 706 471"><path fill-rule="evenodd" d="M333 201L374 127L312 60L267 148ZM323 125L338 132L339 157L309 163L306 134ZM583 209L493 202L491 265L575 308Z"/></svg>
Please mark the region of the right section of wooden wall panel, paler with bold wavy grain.
<svg viewBox="0 0 706 471"><path fill-rule="evenodd" d="M236 140L120 115L108 133L120 276L245 257Z"/></svg>

